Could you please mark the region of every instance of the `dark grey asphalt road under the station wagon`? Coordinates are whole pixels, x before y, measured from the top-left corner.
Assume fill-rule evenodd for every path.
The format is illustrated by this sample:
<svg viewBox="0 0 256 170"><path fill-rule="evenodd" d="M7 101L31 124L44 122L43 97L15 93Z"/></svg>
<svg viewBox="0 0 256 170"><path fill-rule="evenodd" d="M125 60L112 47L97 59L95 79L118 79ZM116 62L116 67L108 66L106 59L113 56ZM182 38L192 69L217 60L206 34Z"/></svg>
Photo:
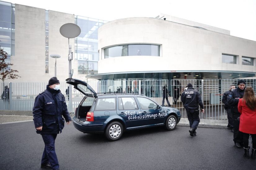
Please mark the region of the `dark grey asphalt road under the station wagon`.
<svg viewBox="0 0 256 170"><path fill-rule="evenodd" d="M256 169L256 160L244 158L244 150L234 147L230 130L204 126L196 137L188 130L182 124L173 131L149 128L109 142L101 134L83 134L65 124L56 138L56 153L62 170ZM33 121L2 124L0 136L1 170L41 169L44 143Z"/></svg>

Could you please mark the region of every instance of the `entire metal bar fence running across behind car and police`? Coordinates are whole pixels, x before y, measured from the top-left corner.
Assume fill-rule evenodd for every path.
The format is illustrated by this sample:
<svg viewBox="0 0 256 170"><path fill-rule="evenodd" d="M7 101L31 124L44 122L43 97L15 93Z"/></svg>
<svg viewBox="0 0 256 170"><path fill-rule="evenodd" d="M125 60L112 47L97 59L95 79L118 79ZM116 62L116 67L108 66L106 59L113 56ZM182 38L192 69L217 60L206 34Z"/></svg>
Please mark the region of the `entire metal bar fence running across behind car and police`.
<svg viewBox="0 0 256 170"><path fill-rule="evenodd" d="M231 84L237 85L238 79L178 79L178 80L106 80L87 82L97 93L139 93L150 97L155 102L162 105L163 87L168 87L168 101L171 107L178 108L182 117L186 117L186 111L181 102L180 96L188 83L198 90L204 101L205 112L200 114L200 118L226 120L227 114L222 104L222 95L229 90ZM256 80L245 79L246 86L251 86L256 91ZM32 111L35 97L46 89L48 82L29 83L0 83L0 110ZM69 95L66 93L68 84L60 83L60 90L65 96L70 112L83 99L83 95L72 87L72 107L70 107ZM9 92L8 92L9 91ZM168 105L164 100L164 105Z"/></svg>

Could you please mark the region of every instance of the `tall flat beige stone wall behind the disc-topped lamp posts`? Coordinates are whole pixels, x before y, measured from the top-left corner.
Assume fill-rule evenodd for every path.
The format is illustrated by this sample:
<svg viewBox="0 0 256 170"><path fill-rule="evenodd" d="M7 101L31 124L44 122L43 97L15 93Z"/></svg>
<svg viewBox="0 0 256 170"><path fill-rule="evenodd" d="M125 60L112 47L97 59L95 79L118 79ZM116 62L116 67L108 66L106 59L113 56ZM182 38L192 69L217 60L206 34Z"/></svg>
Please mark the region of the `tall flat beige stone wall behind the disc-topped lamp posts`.
<svg viewBox="0 0 256 170"><path fill-rule="evenodd" d="M68 38L60 34L65 23L74 23L74 15L49 11L49 73L45 73L45 9L15 4L15 55L11 56L12 69L18 70L21 78L7 82L47 82L54 76L57 58L57 77L65 81L68 71ZM74 38L70 39L74 53ZM74 61L74 60L73 60ZM73 63L74 75L77 62Z"/></svg>

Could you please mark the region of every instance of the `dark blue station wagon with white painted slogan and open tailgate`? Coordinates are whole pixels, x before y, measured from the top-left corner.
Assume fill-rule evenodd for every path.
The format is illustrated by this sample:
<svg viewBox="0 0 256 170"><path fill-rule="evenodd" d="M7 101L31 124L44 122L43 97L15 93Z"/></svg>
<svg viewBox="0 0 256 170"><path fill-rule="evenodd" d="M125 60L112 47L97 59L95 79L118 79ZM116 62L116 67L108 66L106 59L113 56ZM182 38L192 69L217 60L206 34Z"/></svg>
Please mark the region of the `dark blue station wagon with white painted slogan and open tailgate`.
<svg viewBox="0 0 256 170"><path fill-rule="evenodd" d="M160 106L141 94L97 94L82 80L69 78L66 83L85 95L73 117L73 125L83 133L102 133L115 141L127 130L151 126L174 130L181 119L178 109Z"/></svg>

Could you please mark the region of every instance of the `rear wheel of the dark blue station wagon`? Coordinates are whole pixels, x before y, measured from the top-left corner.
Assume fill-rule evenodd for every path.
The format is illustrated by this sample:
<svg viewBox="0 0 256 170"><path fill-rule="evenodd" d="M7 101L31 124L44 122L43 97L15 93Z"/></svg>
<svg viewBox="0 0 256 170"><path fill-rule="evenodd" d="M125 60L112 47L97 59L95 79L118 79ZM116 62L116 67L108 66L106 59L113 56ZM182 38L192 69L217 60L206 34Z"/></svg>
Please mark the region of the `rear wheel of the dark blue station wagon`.
<svg viewBox="0 0 256 170"><path fill-rule="evenodd" d="M123 133L123 125L118 121L111 122L105 130L105 136L110 141L119 140Z"/></svg>

